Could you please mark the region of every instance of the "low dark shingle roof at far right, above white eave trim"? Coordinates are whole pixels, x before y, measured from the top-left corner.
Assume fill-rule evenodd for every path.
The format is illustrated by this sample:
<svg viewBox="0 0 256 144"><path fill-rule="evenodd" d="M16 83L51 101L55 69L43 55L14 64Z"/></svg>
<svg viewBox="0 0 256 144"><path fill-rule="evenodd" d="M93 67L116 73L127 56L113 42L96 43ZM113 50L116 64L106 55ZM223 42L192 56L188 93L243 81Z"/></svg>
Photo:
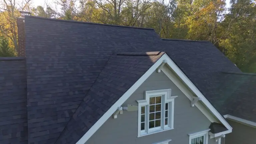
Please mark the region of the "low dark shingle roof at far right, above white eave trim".
<svg viewBox="0 0 256 144"><path fill-rule="evenodd" d="M256 122L256 74L221 73L219 111Z"/></svg>

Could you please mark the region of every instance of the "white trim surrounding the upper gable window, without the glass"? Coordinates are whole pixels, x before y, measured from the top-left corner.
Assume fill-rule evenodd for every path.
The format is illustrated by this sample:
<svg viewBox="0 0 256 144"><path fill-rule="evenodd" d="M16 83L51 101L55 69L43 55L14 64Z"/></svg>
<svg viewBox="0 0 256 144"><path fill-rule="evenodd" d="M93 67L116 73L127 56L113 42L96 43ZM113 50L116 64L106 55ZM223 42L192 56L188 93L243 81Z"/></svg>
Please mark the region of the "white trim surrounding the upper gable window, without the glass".
<svg viewBox="0 0 256 144"><path fill-rule="evenodd" d="M163 106L161 111L162 115L161 118L164 115L164 110L165 110L165 103L169 103L169 113L168 113L168 126L164 125L164 119L162 119L162 126L159 128L153 129L148 129L148 126L145 126L145 131L141 131L141 107L142 106L147 106L149 105L149 98L157 95L165 95L164 96L164 101L163 101ZM174 99L178 96L171 96L171 89L163 89L163 90L152 90L152 91L145 91L145 99L144 100L138 100L138 137L145 136L145 135L150 135L158 132L163 132L167 130L174 129L173 124L174 124ZM145 112L146 113L146 112ZM145 121L146 122L146 121Z"/></svg>

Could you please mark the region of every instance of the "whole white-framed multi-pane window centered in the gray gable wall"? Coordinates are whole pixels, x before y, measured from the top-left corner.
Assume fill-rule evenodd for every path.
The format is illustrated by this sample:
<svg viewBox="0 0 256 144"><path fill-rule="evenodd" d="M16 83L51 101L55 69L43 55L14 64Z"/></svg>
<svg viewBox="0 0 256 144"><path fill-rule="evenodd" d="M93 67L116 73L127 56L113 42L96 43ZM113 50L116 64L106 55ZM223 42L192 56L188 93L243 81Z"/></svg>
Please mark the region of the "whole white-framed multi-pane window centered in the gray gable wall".
<svg viewBox="0 0 256 144"><path fill-rule="evenodd" d="M145 99L138 101L138 137L173 129L176 97L171 89L145 92Z"/></svg>

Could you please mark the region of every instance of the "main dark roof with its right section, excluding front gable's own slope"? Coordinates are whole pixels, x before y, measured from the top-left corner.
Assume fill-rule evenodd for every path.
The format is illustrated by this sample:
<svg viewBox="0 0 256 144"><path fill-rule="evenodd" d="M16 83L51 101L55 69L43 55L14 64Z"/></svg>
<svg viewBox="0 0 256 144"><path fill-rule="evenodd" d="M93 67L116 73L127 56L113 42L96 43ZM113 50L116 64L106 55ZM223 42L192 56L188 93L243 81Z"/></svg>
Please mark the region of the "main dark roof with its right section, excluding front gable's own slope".
<svg viewBox="0 0 256 144"><path fill-rule="evenodd" d="M113 53L165 51L210 102L217 99L209 93L216 72L241 72L209 42L161 40L152 29L33 16L25 21L29 142L61 141Z"/></svg>

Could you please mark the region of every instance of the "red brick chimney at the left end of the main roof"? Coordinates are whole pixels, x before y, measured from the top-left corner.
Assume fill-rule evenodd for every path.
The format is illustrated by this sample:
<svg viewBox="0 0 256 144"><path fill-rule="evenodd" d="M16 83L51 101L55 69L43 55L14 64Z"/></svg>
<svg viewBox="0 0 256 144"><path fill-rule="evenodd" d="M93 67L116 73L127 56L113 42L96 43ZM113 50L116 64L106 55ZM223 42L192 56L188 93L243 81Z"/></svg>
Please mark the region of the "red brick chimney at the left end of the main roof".
<svg viewBox="0 0 256 144"><path fill-rule="evenodd" d="M30 12L20 11L21 17L17 18L18 27L18 56L26 57L25 48L25 15L30 15Z"/></svg>

